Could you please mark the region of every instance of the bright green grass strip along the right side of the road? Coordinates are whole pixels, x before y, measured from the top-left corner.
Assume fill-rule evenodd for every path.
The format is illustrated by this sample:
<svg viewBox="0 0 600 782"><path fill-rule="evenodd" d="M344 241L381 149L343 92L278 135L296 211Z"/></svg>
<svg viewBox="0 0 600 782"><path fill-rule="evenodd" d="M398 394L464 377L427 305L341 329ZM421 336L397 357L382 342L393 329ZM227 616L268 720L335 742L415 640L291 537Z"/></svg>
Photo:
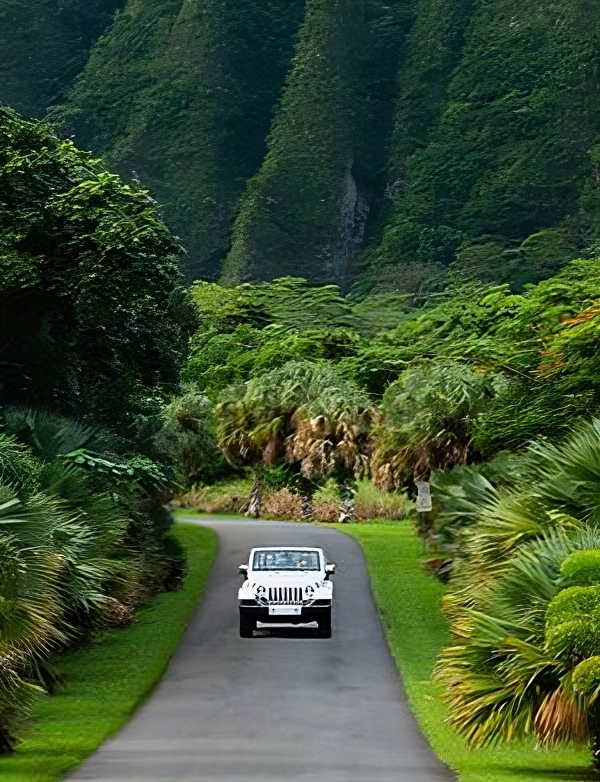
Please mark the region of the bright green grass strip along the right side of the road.
<svg viewBox="0 0 600 782"><path fill-rule="evenodd" d="M530 744L468 750L444 724L440 689L430 680L436 655L448 638L440 613L442 584L420 565L425 556L409 523L355 524L343 528L365 553L373 592L391 652L411 707L437 755L460 782L582 782L589 776L587 750L535 749Z"/></svg>

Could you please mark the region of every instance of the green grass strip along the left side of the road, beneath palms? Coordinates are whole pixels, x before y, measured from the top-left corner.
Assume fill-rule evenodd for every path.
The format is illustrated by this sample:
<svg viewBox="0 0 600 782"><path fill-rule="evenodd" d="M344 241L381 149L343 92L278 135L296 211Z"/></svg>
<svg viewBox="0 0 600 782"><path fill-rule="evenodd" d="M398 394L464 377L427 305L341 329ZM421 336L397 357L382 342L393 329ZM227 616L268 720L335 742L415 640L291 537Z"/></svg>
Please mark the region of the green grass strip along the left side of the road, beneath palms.
<svg viewBox="0 0 600 782"><path fill-rule="evenodd" d="M183 589L158 595L128 627L60 658L66 687L38 703L25 740L14 754L0 757L2 782L60 779L118 730L159 681L198 605L217 550L216 535L206 527L177 524L174 534L188 557Z"/></svg>

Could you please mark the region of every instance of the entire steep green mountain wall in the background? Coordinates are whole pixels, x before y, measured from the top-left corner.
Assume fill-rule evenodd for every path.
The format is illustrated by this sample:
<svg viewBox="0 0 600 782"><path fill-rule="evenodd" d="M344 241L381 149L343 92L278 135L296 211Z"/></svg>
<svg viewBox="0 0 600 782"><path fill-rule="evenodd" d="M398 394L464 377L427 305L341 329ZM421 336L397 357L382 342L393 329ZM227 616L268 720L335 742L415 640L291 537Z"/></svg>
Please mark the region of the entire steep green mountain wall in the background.
<svg viewBox="0 0 600 782"><path fill-rule="evenodd" d="M189 277L426 296L520 289L597 250L589 0L0 0L0 16L0 101L149 186Z"/></svg>

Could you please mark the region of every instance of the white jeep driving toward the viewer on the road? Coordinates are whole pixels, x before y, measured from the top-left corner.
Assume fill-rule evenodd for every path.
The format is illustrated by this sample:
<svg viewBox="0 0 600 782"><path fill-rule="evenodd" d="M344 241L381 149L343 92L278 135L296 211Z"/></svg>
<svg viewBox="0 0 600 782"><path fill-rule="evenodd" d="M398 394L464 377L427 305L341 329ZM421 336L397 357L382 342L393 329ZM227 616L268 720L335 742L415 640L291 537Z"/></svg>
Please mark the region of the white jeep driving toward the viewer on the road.
<svg viewBox="0 0 600 782"><path fill-rule="evenodd" d="M253 548L248 564L240 565L246 577L238 594L242 638L252 637L257 622L317 622L319 636L331 638L334 572L320 548Z"/></svg>

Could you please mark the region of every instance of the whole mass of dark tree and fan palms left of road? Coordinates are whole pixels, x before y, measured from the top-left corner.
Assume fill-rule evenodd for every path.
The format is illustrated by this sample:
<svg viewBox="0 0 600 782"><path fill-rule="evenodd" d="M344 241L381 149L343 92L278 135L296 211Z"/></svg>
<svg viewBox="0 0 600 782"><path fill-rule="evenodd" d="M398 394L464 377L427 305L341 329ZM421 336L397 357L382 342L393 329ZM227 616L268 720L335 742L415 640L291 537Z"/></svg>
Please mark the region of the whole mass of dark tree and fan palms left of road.
<svg viewBox="0 0 600 782"><path fill-rule="evenodd" d="M51 656L180 583L169 450L153 435L196 321L147 191L8 109L0 193L6 752L61 684Z"/></svg>

